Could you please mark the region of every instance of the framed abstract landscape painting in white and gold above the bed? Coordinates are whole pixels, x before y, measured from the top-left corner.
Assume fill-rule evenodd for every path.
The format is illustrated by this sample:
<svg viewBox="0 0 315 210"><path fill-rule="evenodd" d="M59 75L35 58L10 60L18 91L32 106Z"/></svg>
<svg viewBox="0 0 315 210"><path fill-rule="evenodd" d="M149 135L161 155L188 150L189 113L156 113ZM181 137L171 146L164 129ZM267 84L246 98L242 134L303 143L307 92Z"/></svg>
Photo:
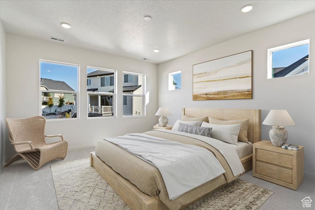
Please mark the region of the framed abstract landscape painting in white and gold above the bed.
<svg viewBox="0 0 315 210"><path fill-rule="evenodd" d="M253 50L192 65L192 99L252 99Z"/></svg>

